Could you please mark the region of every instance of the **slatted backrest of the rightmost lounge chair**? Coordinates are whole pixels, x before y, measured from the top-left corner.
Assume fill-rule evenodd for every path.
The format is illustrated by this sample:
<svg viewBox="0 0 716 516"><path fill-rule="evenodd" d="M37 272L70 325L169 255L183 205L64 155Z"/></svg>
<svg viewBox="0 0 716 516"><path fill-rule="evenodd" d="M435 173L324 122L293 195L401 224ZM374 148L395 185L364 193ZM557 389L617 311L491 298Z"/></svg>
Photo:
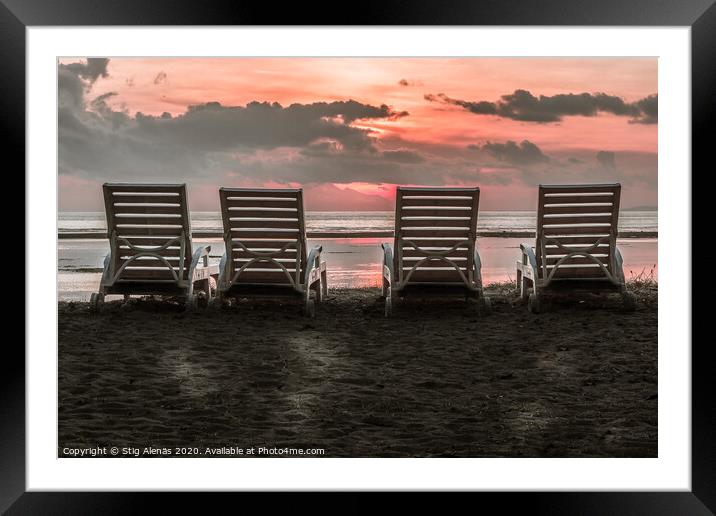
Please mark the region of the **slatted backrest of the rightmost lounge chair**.
<svg viewBox="0 0 716 516"><path fill-rule="evenodd" d="M614 273L620 193L617 183L540 185L535 253L543 278Z"/></svg>

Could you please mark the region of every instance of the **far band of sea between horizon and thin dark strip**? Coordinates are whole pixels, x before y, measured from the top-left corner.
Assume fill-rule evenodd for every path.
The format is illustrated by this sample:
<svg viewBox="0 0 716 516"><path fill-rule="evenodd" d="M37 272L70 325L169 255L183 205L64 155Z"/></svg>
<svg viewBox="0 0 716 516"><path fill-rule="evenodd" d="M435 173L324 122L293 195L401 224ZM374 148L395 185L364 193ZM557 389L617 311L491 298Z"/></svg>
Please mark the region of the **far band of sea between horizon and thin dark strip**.
<svg viewBox="0 0 716 516"><path fill-rule="evenodd" d="M534 231L536 213L533 211L481 211L477 221L478 231ZM622 211L619 214L620 231L658 230L657 212ZM306 228L309 231L355 233L356 231L392 231L395 213L392 211L366 212L308 212ZM221 231L221 215L218 212L195 211L191 213L193 231ZM95 232L106 230L102 212L61 212L58 231Z"/></svg>

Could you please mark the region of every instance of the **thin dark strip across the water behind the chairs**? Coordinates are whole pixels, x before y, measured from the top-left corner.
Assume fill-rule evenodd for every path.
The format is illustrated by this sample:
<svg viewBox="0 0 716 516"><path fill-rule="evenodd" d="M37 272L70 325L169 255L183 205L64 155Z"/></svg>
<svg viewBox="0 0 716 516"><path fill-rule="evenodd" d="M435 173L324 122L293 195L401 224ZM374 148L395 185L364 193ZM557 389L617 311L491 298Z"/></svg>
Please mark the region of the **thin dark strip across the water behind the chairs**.
<svg viewBox="0 0 716 516"><path fill-rule="evenodd" d="M393 238L392 231L308 231L307 238ZM478 237L487 238L534 238L534 231L478 231ZM658 238L658 231L621 231L619 238ZM221 231L194 231L192 238L222 238ZM105 231L63 231L57 234L60 240L104 240Z"/></svg>

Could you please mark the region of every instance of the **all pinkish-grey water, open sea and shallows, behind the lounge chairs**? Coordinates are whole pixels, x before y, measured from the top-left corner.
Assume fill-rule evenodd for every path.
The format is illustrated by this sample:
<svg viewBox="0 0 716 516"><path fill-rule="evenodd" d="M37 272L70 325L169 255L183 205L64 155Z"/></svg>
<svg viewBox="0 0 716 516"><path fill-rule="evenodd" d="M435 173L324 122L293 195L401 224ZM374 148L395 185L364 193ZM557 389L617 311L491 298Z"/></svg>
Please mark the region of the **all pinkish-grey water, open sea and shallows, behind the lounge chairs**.
<svg viewBox="0 0 716 516"><path fill-rule="evenodd" d="M483 231L534 231L534 212L483 212L478 224ZM330 212L307 214L312 231L345 232L392 231L393 212ZM657 231L656 212L623 212L622 231ZM94 232L105 229L103 213L61 213L60 232ZM218 213L194 212L194 231L219 231ZM380 244L389 238L309 239L309 245L322 245L328 264L329 287L374 287L380 285L383 259ZM529 238L478 238L482 275L486 284L514 279L515 261L520 257L520 243ZM532 242L533 243L533 242ZM220 238L194 239L194 245L211 245L211 260L218 262L224 252ZM627 278L643 272L658 272L656 238L628 238L618 242L625 262ZM107 239L58 240L58 296L61 300L88 300L97 290L104 256L109 251Z"/></svg>

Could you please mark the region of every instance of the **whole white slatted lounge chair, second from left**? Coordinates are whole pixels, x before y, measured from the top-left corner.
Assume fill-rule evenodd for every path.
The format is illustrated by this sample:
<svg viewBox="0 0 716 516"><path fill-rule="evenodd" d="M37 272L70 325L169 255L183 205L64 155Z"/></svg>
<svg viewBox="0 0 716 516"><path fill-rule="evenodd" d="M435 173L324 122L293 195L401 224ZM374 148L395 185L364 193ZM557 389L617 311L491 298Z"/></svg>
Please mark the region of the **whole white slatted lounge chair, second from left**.
<svg viewBox="0 0 716 516"><path fill-rule="evenodd" d="M221 188L219 197L226 252L214 303L284 292L300 296L314 317L328 282L321 246L306 242L303 190Z"/></svg>

